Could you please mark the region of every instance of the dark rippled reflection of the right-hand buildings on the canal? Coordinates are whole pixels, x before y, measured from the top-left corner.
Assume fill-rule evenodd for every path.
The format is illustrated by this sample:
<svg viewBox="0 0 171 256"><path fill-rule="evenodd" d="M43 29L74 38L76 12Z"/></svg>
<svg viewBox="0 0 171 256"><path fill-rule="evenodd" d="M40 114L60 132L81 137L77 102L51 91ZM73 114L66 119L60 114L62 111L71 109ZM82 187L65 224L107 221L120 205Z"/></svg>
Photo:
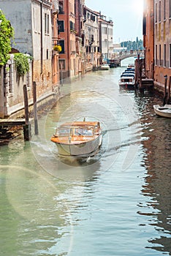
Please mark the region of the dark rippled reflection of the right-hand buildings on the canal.
<svg viewBox="0 0 171 256"><path fill-rule="evenodd" d="M142 114L143 136L148 138L142 143L145 153L143 165L147 170L142 195L146 200L144 204L140 204L142 210L138 213L148 217L148 225L156 230L156 237L149 238L153 246L147 248L165 252L167 255L167 252L171 252L171 121L153 114L154 100L159 102L161 99L153 99L150 92L146 92L146 97L144 94L137 95L136 100Z"/></svg>

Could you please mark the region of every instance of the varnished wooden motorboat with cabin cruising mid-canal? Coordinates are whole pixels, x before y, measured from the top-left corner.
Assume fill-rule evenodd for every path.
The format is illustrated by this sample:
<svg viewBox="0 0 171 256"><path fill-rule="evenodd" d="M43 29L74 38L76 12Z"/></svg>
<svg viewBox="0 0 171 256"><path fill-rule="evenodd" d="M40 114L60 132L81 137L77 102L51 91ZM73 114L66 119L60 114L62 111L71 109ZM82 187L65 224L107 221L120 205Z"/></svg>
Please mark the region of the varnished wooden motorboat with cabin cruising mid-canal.
<svg viewBox="0 0 171 256"><path fill-rule="evenodd" d="M102 144L99 121L74 121L57 127L51 141L59 156L91 157Z"/></svg>

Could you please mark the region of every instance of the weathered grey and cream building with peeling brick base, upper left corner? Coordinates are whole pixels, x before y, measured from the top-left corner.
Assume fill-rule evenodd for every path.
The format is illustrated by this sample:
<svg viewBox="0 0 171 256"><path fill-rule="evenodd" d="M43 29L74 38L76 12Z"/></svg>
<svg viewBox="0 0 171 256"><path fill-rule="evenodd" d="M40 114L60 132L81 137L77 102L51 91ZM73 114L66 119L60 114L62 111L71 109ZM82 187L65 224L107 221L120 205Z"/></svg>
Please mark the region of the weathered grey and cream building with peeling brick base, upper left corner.
<svg viewBox="0 0 171 256"><path fill-rule="evenodd" d="M30 54L33 61L32 78L37 83L38 96L52 86L52 26L51 1L0 1L15 29L12 48Z"/></svg>

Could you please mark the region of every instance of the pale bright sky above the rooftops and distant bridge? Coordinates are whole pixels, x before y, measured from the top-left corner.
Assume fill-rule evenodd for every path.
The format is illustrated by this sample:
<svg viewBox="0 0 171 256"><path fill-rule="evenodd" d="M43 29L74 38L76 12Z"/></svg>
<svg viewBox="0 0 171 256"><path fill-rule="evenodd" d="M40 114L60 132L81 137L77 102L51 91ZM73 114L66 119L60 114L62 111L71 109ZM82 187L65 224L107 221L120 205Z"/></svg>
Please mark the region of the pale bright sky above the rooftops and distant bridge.
<svg viewBox="0 0 171 256"><path fill-rule="evenodd" d="M113 20L113 42L142 39L143 0L85 0L86 7Z"/></svg>

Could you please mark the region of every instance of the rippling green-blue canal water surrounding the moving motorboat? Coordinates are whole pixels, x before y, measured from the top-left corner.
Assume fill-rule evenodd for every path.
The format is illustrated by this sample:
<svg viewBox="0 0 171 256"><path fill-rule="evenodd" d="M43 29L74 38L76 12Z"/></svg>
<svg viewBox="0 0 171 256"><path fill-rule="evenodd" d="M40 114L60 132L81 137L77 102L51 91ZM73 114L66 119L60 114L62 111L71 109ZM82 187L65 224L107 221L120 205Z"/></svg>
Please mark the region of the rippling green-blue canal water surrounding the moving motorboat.
<svg viewBox="0 0 171 256"><path fill-rule="evenodd" d="M153 91L119 88L132 61L64 84L39 135L1 146L0 255L171 255L171 120ZM58 158L56 126L84 117L101 123L99 152Z"/></svg>

